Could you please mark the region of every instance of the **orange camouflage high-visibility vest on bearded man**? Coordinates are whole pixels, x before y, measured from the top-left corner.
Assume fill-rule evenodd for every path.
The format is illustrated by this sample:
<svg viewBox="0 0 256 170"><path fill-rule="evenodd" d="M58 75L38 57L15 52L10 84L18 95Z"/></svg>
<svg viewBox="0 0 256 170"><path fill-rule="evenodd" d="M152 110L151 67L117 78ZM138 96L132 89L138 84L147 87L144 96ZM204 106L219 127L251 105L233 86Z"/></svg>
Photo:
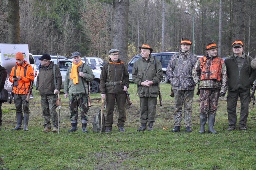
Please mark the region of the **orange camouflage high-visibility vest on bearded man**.
<svg viewBox="0 0 256 170"><path fill-rule="evenodd" d="M200 57L200 80L221 80L221 67L224 60L220 57L213 59L206 56Z"/></svg>

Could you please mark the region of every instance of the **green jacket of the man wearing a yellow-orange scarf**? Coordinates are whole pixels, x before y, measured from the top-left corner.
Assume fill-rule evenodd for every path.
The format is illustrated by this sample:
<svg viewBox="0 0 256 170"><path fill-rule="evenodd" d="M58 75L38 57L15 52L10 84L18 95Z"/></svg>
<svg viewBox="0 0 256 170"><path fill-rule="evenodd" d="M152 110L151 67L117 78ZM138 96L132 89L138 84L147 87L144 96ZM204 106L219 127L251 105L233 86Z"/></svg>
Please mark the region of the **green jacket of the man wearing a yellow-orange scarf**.
<svg viewBox="0 0 256 170"><path fill-rule="evenodd" d="M66 77L65 77L65 81L64 81L64 94L65 93L68 93L69 95L71 95L71 94L84 94L84 93L88 94L88 84L87 83L94 80L94 75L93 75L93 72L92 72L91 68L87 64L84 64L84 68L81 71L82 65L83 64L81 64L77 68L77 71L78 72L83 72L84 77L82 78L78 75L78 84L73 84L73 80L69 79L72 65L68 67ZM82 81L84 81L85 89L84 89Z"/></svg>

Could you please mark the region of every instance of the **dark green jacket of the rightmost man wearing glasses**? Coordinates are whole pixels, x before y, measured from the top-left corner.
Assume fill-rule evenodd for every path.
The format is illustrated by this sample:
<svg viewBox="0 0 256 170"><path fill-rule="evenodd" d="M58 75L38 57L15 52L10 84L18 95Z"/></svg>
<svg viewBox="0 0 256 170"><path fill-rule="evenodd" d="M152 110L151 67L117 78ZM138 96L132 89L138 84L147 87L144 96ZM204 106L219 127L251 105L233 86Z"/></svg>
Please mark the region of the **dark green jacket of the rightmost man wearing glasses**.
<svg viewBox="0 0 256 170"><path fill-rule="evenodd" d="M247 63L247 57L249 57L250 63ZM234 53L233 55L226 58L226 60L224 61L226 64L227 75L228 75L228 90L235 91L235 90L238 90L239 88L243 90L248 90L251 88L251 85L255 81L256 69L252 69L251 67L252 57L245 54L245 60L246 61L244 62L244 65L241 71L239 71L238 69L238 65L237 65ZM249 68L250 68L250 71L249 71ZM251 74L249 74L249 72Z"/></svg>

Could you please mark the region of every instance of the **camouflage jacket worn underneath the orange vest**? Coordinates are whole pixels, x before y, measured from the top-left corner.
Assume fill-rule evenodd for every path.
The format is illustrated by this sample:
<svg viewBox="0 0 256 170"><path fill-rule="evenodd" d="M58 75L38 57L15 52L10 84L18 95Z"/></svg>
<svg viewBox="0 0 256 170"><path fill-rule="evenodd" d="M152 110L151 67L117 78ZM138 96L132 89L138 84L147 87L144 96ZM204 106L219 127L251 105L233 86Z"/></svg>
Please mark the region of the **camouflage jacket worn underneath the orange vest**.
<svg viewBox="0 0 256 170"><path fill-rule="evenodd" d="M212 58L207 57L206 62L204 64L204 67L210 68L212 64ZM216 79L208 79L208 80L200 80L201 77L201 63L200 60L197 60L193 70L192 70L192 76L195 83L199 82L199 89L202 88L214 88L214 89L220 89L221 92L226 93L227 91L227 69L226 65L223 62L221 66L221 75L220 75L220 81L217 81ZM218 71L218 70L215 70ZM199 81L200 80L200 81Z"/></svg>

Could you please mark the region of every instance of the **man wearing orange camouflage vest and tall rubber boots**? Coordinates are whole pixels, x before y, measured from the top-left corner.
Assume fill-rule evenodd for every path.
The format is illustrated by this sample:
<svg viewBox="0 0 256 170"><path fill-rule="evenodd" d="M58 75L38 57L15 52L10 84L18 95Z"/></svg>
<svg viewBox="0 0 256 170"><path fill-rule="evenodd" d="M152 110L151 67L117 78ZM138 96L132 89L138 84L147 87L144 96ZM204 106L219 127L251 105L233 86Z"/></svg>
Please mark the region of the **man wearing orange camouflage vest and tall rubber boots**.
<svg viewBox="0 0 256 170"><path fill-rule="evenodd" d="M206 46L207 55L200 57L193 70L194 82L200 89L200 131L205 133L204 125L208 116L208 133L217 133L214 129L215 115L220 96L224 96L227 90L227 69L224 60L217 56L218 47L215 43Z"/></svg>

